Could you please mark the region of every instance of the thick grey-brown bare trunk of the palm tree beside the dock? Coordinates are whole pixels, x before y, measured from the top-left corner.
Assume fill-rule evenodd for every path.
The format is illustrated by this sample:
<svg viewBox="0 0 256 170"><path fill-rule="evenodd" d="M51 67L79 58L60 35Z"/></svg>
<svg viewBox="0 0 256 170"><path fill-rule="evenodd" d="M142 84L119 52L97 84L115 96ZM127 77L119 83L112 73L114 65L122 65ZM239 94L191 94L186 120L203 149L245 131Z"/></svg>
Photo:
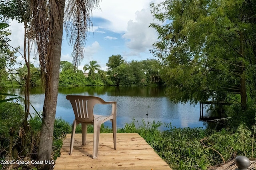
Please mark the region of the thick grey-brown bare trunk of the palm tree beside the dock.
<svg viewBox="0 0 256 170"><path fill-rule="evenodd" d="M51 57L50 61L50 64L52 65L48 67L48 74L46 76L42 128L38 148L38 160L43 162L45 160L51 160L52 154L54 120L56 114L58 82L60 75L60 55L63 35L65 0L58 0L56 4L58 5L59 13L59 23L57 23L59 24L59 29L55 29L53 32L54 36L50 37L54 38L54 48L53 56ZM40 168L42 168L42 170L49 170L52 168L52 165L43 164Z"/></svg>

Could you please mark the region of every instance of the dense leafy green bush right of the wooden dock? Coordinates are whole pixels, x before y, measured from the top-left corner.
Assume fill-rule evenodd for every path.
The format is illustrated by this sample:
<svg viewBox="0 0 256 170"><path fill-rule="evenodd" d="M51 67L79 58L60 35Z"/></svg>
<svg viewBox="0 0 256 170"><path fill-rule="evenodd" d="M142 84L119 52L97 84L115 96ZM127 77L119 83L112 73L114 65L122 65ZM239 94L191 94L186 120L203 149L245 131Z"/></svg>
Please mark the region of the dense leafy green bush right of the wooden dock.
<svg viewBox="0 0 256 170"><path fill-rule="evenodd" d="M256 156L252 153L252 132L243 124L234 133L226 129L208 137L207 133L202 128L172 128L162 132L151 146L173 169L180 170L207 169L237 154Z"/></svg>

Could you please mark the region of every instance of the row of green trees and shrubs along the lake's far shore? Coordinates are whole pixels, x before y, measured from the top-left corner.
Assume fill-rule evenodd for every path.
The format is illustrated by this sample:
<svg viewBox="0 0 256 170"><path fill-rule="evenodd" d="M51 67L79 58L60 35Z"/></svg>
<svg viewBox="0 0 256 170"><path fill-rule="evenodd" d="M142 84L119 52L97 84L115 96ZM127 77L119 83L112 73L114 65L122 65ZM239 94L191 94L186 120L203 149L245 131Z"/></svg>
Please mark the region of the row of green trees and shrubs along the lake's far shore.
<svg viewBox="0 0 256 170"><path fill-rule="evenodd" d="M118 57L116 59L116 57ZM155 59L124 61L120 55L109 57L108 70L100 70L96 61L84 66L84 72L68 61L60 62L59 86L162 86L160 63ZM112 61L114 60L114 61ZM116 61L117 60L117 61ZM113 63L119 63L113 65ZM98 66L98 67L97 67ZM15 73L14 73L15 72ZM25 86L28 68L26 65L6 73L2 86ZM42 86L41 70L30 63L30 87Z"/></svg>

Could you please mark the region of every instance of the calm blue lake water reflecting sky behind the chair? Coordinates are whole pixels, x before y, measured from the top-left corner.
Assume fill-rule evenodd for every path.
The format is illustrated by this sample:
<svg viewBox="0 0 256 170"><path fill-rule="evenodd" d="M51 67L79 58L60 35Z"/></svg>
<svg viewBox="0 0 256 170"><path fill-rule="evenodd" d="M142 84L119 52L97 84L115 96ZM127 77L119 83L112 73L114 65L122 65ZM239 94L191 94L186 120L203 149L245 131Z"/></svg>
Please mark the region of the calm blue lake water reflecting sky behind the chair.
<svg viewBox="0 0 256 170"><path fill-rule="evenodd" d="M90 95L98 96L105 101L117 102L117 126L124 127L132 119L147 121L161 121L171 123L175 127L206 127L206 123L199 121L200 105L174 104L164 95L164 88L149 87L59 87L56 117L62 117L72 123L74 113L66 95ZM24 96L21 88L16 88L17 95ZM30 102L37 111L42 111L44 104L44 92L42 88L32 88ZM110 114L111 105L96 105L94 113L102 111ZM32 112L32 107L30 108ZM146 114L148 113L148 117ZM111 126L110 122L106 122ZM162 126L160 130L166 130Z"/></svg>

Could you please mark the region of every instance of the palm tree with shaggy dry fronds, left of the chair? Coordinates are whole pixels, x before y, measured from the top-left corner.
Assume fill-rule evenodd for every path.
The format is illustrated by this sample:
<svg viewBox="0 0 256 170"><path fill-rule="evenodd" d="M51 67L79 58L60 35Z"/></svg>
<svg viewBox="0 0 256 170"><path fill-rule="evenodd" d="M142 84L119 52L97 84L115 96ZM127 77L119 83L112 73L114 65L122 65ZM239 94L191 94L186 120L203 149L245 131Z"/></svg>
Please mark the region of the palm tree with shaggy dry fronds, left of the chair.
<svg viewBox="0 0 256 170"><path fill-rule="evenodd" d="M84 45L92 21L92 9L99 0L28 0L31 4L31 30L38 46L38 58L45 84L45 98L42 112L42 128L38 147L38 160L51 160L54 119L56 114L60 55L65 28L69 43L73 45L73 64L77 66L83 59ZM66 3L66 8L65 8ZM50 169L49 164L41 167Z"/></svg>

